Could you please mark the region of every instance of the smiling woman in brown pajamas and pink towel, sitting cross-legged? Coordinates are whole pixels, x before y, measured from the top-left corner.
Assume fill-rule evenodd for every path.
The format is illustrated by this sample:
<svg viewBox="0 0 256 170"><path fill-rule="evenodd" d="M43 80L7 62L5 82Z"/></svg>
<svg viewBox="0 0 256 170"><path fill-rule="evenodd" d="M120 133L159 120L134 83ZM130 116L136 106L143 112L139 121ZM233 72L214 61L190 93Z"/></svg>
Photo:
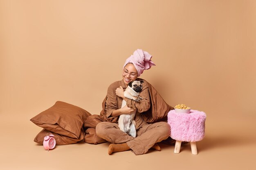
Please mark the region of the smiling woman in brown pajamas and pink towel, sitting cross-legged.
<svg viewBox="0 0 256 170"><path fill-rule="evenodd" d="M155 103L150 102L153 97L150 96L150 88L152 87L149 87L151 86L149 83L145 80L142 83L143 88L139 96L143 99L139 102L124 97L124 90L128 87L128 83L141 80L138 78L141 73L155 65L151 61L151 57L148 52L137 49L124 64L122 80L116 81L108 87L103 116L109 121L97 124L96 133L99 137L112 143L108 148L109 155L113 152L130 149L135 155L144 154L150 148L161 150L156 143L167 139L170 135L170 126L166 122L148 123L146 121L147 116L152 115L150 103ZM126 100L126 106L121 108L123 99ZM134 138L119 129L117 119L121 114L130 114L135 109L137 109L134 118L137 136ZM167 109L171 110L173 107L168 107Z"/></svg>

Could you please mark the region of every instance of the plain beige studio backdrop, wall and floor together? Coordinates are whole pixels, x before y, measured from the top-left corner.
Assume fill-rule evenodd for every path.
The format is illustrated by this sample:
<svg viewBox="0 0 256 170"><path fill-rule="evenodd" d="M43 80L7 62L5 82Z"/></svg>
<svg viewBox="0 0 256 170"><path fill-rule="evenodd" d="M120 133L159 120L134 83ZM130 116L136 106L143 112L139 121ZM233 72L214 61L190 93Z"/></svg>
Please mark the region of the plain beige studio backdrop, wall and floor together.
<svg viewBox="0 0 256 170"><path fill-rule="evenodd" d="M0 168L253 169L255 9L254 0L1 0ZM198 155L189 144L109 156L108 143L47 152L33 142L41 128L29 119L57 100L99 114L137 48L157 65L140 78L169 105L207 113Z"/></svg>

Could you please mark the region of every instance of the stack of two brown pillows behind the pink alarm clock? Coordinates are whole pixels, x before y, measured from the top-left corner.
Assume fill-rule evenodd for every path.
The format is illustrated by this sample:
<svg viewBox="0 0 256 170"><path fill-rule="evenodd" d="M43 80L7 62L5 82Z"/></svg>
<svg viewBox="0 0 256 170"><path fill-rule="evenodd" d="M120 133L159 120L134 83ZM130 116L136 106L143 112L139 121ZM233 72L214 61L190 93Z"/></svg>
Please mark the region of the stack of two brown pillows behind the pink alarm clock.
<svg viewBox="0 0 256 170"><path fill-rule="evenodd" d="M91 114L74 105L57 101L49 109L30 120L44 128L34 142L43 144L47 133L52 133L57 145L74 144L84 139L83 123Z"/></svg>

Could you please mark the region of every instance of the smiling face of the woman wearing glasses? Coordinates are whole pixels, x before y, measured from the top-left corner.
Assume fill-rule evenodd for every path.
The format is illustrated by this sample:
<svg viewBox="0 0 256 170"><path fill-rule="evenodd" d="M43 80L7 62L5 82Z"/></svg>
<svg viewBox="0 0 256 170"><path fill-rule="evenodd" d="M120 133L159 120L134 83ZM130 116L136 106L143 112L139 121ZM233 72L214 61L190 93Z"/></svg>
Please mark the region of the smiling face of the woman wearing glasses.
<svg viewBox="0 0 256 170"><path fill-rule="evenodd" d="M123 70L123 79L126 86L128 86L128 84L131 81L135 81L137 77L138 77L138 72L134 67L134 65L132 63L126 64Z"/></svg>

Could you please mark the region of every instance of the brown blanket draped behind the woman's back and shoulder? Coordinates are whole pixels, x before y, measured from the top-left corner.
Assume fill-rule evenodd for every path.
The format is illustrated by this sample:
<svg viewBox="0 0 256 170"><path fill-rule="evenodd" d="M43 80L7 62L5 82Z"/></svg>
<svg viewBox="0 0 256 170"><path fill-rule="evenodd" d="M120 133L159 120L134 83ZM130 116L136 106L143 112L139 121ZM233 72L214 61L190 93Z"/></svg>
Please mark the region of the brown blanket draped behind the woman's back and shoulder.
<svg viewBox="0 0 256 170"><path fill-rule="evenodd" d="M144 120L148 123L159 122L159 121L167 122L167 113L174 108L168 105L164 101L164 99L160 96L157 90L150 83L148 83L148 88L149 88L150 99L151 99L150 109L142 113ZM88 118L85 120L83 125L85 129L95 128L99 122L113 122L113 123L118 122L118 117L107 118L106 112L105 112L106 100L107 100L107 96L102 102L102 111L100 115L88 116ZM104 139L97 137L96 134L92 134L92 131L90 131L90 134L89 133L85 134L84 141L90 144L98 144L98 143L106 142Z"/></svg>

